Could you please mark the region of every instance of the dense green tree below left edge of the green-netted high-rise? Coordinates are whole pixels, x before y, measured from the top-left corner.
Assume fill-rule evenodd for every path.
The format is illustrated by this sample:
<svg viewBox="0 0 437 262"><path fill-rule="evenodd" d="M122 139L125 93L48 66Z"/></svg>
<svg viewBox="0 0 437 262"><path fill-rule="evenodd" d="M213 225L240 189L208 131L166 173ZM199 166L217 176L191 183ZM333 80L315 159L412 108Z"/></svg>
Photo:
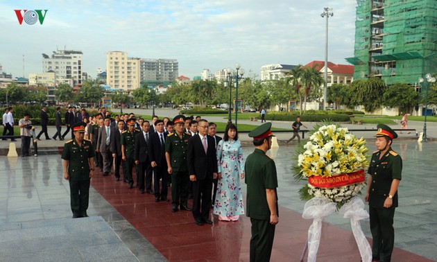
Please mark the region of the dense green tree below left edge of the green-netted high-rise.
<svg viewBox="0 0 437 262"><path fill-rule="evenodd" d="M386 84L379 78L356 80L350 85L351 105L363 105L364 110L373 112L382 105Z"/></svg>

